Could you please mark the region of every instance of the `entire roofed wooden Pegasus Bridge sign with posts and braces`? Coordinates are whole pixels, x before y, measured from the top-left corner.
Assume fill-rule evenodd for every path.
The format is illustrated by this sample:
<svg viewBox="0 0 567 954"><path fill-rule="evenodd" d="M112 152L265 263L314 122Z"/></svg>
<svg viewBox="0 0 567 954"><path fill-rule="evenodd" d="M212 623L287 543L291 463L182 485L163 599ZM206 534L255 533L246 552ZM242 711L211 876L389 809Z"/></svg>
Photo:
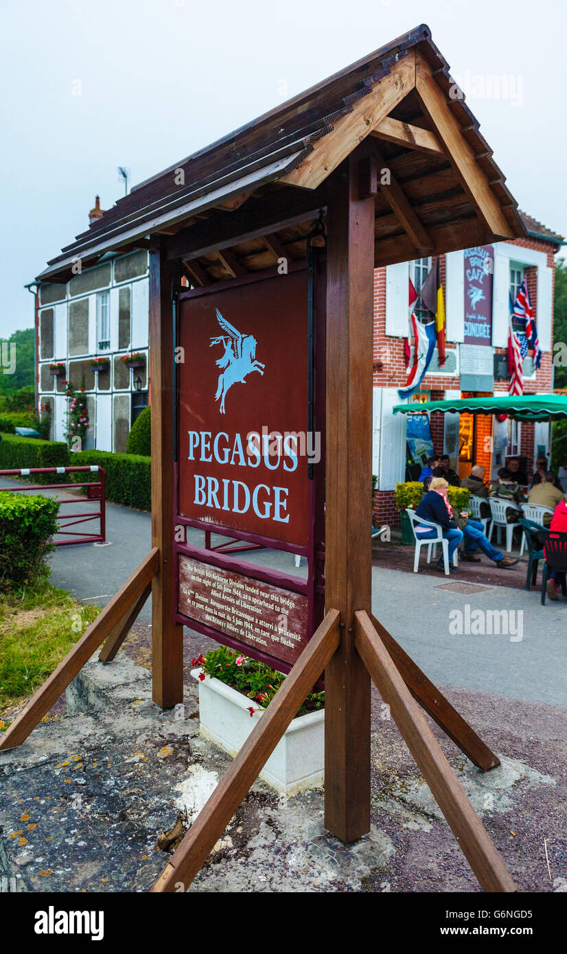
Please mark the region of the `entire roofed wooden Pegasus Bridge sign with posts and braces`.
<svg viewBox="0 0 567 954"><path fill-rule="evenodd" d="M0 749L29 736L105 639L114 657L150 591L159 706L183 698L184 626L288 673L156 891L193 880L322 676L327 830L346 842L369 831L373 681L482 887L515 890L422 709L480 770L498 757L371 608L375 269L523 235L451 87L420 26L141 183L40 277L149 247L152 549ZM394 171L405 164L410 195ZM320 460L293 438L266 453L274 431L320 432ZM214 549L211 533L229 543ZM259 546L290 567L304 557L306 577L242 559ZM255 612L239 612L242 595Z"/></svg>

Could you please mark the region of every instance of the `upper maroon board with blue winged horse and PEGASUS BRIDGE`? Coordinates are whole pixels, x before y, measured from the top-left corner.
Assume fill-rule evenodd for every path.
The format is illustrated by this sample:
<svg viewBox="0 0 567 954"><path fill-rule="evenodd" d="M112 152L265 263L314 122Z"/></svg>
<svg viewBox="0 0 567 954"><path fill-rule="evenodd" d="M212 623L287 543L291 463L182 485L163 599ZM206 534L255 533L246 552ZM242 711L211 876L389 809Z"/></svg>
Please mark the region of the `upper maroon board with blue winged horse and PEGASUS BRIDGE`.
<svg viewBox="0 0 567 954"><path fill-rule="evenodd" d="M306 271L179 312L179 514L304 547Z"/></svg>

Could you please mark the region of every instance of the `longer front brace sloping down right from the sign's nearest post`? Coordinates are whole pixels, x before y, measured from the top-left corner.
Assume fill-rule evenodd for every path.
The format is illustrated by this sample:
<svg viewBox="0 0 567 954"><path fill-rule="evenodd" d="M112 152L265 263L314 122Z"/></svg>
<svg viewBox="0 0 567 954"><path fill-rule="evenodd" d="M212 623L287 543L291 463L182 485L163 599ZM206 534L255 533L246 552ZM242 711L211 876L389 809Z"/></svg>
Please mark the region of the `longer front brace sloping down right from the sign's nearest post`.
<svg viewBox="0 0 567 954"><path fill-rule="evenodd" d="M508 868L476 815L367 612L355 617L355 646L485 891L515 891Z"/></svg>

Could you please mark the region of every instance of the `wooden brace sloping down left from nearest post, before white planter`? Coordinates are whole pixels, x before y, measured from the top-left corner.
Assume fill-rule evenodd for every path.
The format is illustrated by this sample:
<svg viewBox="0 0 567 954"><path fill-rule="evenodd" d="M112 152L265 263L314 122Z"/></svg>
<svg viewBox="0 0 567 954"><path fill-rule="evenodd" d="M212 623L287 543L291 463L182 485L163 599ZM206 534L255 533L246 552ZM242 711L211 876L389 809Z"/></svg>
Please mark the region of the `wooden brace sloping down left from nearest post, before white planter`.
<svg viewBox="0 0 567 954"><path fill-rule="evenodd" d="M179 883L187 890L338 645L339 613L330 610L163 869L153 891L175 891Z"/></svg>

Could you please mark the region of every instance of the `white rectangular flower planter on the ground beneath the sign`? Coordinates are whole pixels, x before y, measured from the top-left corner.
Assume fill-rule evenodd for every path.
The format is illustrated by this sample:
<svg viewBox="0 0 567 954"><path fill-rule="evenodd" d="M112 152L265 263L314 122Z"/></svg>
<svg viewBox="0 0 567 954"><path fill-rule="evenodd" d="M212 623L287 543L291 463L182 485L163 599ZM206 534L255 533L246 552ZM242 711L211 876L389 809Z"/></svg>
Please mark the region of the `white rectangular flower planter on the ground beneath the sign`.
<svg viewBox="0 0 567 954"><path fill-rule="evenodd" d="M264 710L257 702L206 675L199 681L200 735L236 756ZM250 717L249 706L258 709ZM325 710L294 718L265 763L260 778L283 795L296 795L323 784Z"/></svg>

